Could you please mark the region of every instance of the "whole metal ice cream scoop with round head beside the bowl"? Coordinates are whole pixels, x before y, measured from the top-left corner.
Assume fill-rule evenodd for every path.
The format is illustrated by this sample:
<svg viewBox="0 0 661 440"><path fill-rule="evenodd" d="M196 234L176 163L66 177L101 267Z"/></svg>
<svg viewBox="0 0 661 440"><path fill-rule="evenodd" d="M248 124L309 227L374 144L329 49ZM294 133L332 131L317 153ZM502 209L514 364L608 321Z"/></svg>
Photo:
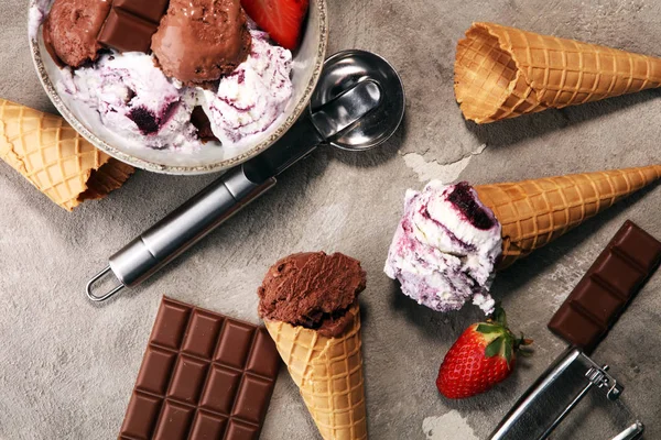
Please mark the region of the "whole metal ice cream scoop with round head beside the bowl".
<svg viewBox="0 0 661 440"><path fill-rule="evenodd" d="M365 51L344 51L324 63L308 112L264 153L232 168L109 258L86 286L93 301L134 287L186 251L277 183L277 176L328 143L365 151L386 142L404 114L404 89L394 68ZM120 284L97 295L112 272Z"/></svg>

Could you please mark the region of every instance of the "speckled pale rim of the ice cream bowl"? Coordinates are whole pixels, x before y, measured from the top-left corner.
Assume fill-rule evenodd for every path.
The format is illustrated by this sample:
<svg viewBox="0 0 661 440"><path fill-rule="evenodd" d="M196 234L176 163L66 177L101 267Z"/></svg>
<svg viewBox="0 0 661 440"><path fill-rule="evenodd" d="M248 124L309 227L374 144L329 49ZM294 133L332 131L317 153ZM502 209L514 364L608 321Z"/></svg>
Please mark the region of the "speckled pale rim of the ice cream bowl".
<svg viewBox="0 0 661 440"><path fill-rule="evenodd" d="M29 8L35 6L36 0L31 0L29 3ZM296 102L294 110L292 113L280 123L278 129L266 140L254 145L250 150L241 153L238 156L218 161L213 164L207 165L196 165L196 166L183 166L183 165L163 165L152 161L145 161L139 157L136 157L131 154L128 154L123 151L120 151L112 146L111 144L105 142L91 131L89 131L79 120L74 116L74 113L68 109L68 107L64 103L59 94L48 74L46 72L44 62L42 59L41 50L39 46L39 38L32 38L29 36L30 43L30 52L32 56L32 62L36 69L37 77L53 102L53 106L57 109L57 111L62 114L62 117L78 132L83 138L89 141L94 146L101 150L102 152L109 154L110 156L124 162L129 165L132 165L137 168L145 169L149 172L160 173L160 174L173 174L173 175L201 175L201 174L209 174L217 173L234 166L240 165L246 161L257 156L262 153L271 145L275 143L289 129L292 128L294 122L303 114L303 112L308 108L310 100L312 98L312 94L316 88L316 85L319 80L322 69L324 67L324 62L326 58L326 50L328 46L328 20L327 20L327 3L326 0L316 0L315 6L319 15L319 43L317 46L317 53L314 61L314 66L312 69L312 77L305 87L303 96ZM312 4L311 4L312 7ZM310 12L308 12L310 13ZM41 26L40 26L41 28Z"/></svg>

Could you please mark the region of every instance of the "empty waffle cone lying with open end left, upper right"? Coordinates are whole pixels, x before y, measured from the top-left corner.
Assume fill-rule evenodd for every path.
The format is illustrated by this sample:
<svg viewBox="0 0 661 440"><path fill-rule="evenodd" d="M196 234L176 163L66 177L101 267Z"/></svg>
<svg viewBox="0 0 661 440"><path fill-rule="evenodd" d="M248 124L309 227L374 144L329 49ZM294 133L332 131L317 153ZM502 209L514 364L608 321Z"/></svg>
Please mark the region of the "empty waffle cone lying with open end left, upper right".
<svg viewBox="0 0 661 440"><path fill-rule="evenodd" d="M499 121L661 86L661 59L474 23L457 45L455 95L466 119Z"/></svg>

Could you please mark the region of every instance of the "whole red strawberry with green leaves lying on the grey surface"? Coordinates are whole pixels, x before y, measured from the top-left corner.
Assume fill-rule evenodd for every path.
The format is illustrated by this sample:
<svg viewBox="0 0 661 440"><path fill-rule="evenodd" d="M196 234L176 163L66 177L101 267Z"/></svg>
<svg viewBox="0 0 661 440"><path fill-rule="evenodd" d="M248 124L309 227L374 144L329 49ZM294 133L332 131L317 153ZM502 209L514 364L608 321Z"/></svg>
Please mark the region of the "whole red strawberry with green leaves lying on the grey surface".
<svg viewBox="0 0 661 440"><path fill-rule="evenodd" d="M505 310L497 306L487 322L468 327L452 345L438 370L436 386L447 398L484 393L511 374L516 353L531 343L514 337L507 328Z"/></svg>

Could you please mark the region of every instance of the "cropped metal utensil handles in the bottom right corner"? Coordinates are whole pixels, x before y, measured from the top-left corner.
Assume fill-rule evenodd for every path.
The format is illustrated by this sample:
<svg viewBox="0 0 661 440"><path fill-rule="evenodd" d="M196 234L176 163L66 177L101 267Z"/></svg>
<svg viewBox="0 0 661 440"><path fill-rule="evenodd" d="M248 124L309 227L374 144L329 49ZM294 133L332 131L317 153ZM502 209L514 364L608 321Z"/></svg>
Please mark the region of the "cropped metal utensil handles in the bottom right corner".
<svg viewBox="0 0 661 440"><path fill-rule="evenodd" d="M521 396L489 440L545 440L592 391L615 402L624 386L581 350L570 346ZM577 392L577 393L576 393ZM636 421L613 440L633 440L643 431Z"/></svg>

